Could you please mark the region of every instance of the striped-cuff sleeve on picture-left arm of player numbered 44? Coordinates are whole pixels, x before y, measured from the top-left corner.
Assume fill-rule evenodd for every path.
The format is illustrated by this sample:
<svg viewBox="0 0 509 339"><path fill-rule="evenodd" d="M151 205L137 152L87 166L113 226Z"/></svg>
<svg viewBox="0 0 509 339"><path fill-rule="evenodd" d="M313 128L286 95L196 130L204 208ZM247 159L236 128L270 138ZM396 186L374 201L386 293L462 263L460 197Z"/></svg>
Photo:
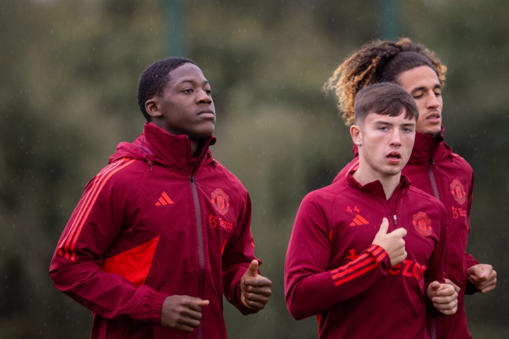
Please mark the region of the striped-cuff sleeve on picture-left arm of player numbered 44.
<svg viewBox="0 0 509 339"><path fill-rule="evenodd" d="M285 294L295 319L330 310L371 288L390 266L387 252L371 245L348 264L329 268L329 219L319 194L307 195L297 212L285 263Z"/></svg>

